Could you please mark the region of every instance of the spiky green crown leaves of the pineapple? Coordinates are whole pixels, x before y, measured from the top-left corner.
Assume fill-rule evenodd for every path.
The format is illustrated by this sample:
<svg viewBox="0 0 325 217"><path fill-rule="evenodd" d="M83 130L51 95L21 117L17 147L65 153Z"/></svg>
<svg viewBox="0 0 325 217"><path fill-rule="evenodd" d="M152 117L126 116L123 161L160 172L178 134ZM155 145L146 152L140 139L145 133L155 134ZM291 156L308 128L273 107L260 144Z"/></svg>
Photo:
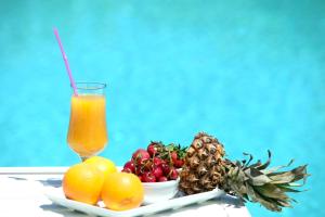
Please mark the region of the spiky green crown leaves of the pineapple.
<svg viewBox="0 0 325 217"><path fill-rule="evenodd" d="M287 192L300 192L300 190L292 187L301 187L306 183L307 165L298 166L291 170L278 171L292 164L290 161L288 165L277 166L268 169L271 163L271 152L268 151L268 161L262 164L257 161L250 164L252 155L242 162L226 161L226 189L231 189L232 193L237 194L244 201L258 202L270 210L281 212L282 207L291 207L294 199L287 195ZM303 180L302 184L296 183Z"/></svg>

